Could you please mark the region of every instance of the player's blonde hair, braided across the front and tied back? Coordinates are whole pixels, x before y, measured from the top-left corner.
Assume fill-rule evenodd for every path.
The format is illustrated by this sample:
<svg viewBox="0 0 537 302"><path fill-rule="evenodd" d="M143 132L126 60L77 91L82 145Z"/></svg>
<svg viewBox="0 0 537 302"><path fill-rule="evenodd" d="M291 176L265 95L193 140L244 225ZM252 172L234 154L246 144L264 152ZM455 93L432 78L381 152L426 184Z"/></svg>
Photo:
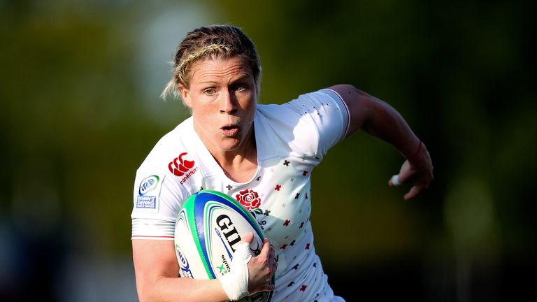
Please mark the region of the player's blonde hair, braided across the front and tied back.
<svg viewBox="0 0 537 302"><path fill-rule="evenodd" d="M173 75L161 94L180 96L179 85L189 87L190 69L194 62L213 57L245 57L250 62L252 74L259 92L261 64L254 43L238 27L212 25L199 27L189 32L177 48L173 60Z"/></svg>

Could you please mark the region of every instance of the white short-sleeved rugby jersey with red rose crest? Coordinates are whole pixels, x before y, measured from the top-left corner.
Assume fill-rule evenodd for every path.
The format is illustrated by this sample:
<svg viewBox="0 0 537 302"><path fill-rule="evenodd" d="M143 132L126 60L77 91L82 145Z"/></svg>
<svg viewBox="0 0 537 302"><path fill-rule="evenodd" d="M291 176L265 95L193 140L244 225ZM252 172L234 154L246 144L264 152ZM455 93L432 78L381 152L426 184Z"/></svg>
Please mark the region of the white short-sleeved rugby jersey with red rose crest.
<svg viewBox="0 0 537 302"><path fill-rule="evenodd" d="M227 178L189 117L138 168L132 238L173 240L183 201L201 189L224 192L250 210L275 248L272 301L333 300L313 247L310 179L329 148L345 138L348 114L341 96L331 89L282 105L258 105L257 171L244 183Z"/></svg>

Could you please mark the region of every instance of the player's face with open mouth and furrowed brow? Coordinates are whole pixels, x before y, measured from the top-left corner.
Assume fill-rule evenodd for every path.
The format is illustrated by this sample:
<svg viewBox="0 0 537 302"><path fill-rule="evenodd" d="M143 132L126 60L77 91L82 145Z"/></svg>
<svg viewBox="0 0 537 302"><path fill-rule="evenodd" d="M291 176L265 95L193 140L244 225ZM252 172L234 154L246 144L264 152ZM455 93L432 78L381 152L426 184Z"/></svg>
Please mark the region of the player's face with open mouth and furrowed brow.
<svg viewBox="0 0 537 302"><path fill-rule="evenodd" d="M180 85L182 99L192 110L194 129L215 155L247 152L255 140L253 120L257 92L247 59L203 59L191 69L190 87Z"/></svg>

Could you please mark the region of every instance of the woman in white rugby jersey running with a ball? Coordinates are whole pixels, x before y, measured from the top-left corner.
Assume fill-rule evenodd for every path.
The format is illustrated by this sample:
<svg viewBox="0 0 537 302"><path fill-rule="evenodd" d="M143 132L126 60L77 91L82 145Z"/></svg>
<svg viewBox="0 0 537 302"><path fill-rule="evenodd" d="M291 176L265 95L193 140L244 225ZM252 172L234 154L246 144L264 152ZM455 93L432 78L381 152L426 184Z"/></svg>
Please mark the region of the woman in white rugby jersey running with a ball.
<svg viewBox="0 0 537 302"><path fill-rule="evenodd" d="M134 187L132 245L141 301L229 301L267 290L274 291L272 301L342 301L315 254L310 175L329 148L358 129L407 158L389 180L390 186L413 180L405 199L429 186L427 148L387 103L336 85L283 105L258 105L260 75L255 45L236 27L201 27L179 45L163 96L180 95L192 116L155 145ZM261 254L234 264L245 268L236 280L178 278L176 216L200 189L224 192L254 210L268 238ZM273 273L275 288L268 284Z"/></svg>

